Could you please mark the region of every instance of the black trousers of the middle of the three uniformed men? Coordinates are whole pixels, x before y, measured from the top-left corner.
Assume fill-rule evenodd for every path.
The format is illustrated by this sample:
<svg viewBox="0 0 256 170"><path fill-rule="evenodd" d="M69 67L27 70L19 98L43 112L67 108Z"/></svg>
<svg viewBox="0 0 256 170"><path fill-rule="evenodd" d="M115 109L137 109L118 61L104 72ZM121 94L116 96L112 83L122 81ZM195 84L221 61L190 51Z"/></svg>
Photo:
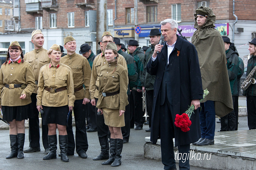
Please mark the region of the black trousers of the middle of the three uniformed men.
<svg viewBox="0 0 256 170"><path fill-rule="evenodd" d="M75 117L75 140L72 129L72 116L68 119L67 133L68 133L68 153L74 154L75 148L79 155L86 153L88 150L88 141L85 124L85 105L82 104L84 99L75 100L74 102L74 117Z"/></svg>

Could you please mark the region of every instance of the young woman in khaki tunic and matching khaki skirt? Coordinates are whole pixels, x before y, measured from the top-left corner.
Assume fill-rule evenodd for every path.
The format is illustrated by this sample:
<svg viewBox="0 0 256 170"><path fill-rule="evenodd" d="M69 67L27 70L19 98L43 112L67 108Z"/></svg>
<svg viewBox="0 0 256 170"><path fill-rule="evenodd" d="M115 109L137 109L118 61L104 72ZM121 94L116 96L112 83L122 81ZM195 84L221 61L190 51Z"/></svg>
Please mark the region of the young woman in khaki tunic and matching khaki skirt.
<svg viewBox="0 0 256 170"><path fill-rule="evenodd" d="M110 131L110 158L102 165L117 167L121 165L123 136L121 127L124 126L124 111L128 105L128 71L117 63L117 47L115 43L108 43L105 57L108 65L101 68L99 76L98 112L104 116L105 124Z"/></svg>

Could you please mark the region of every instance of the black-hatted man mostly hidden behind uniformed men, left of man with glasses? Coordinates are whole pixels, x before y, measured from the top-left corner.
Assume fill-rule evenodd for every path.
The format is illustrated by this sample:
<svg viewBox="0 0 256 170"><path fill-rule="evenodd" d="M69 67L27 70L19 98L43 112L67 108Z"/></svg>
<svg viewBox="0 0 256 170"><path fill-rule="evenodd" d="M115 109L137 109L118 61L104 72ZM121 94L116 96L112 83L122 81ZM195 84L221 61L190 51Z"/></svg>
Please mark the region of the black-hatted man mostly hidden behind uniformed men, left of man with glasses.
<svg viewBox="0 0 256 170"><path fill-rule="evenodd" d="M96 55L91 50L91 46L88 44L82 44L80 46L79 54L82 54L89 62L90 67L92 69L92 63ZM86 119L87 119L87 132L96 132L97 131L97 125L96 125L96 116L95 116L95 106L92 106L92 104L89 102L85 105L85 113L86 113Z"/></svg>

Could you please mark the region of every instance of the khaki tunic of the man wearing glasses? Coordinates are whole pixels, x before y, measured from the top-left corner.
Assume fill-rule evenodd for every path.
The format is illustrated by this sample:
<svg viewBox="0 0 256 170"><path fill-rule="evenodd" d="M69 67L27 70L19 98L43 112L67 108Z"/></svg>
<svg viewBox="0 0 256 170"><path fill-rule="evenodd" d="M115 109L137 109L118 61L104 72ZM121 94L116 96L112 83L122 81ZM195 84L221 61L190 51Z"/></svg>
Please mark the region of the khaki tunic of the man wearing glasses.
<svg viewBox="0 0 256 170"><path fill-rule="evenodd" d="M121 64L124 68L127 70L127 64L122 55L119 54L119 57L117 58L117 63ZM90 82L90 95L91 99L99 98L99 75L101 74L101 67L107 65L108 62L105 58L105 54L102 51L99 55L97 55L93 61L92 64L92 76L91 76L91 82ZM126 90L127 92L127 90Z"/></svg>

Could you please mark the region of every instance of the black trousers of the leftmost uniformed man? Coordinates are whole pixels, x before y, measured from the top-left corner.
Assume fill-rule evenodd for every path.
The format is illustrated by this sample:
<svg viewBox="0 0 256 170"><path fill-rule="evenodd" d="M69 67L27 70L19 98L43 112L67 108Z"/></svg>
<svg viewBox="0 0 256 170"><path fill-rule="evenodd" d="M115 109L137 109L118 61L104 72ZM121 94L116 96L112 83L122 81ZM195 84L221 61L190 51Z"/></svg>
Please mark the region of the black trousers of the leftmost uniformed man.
<svg viewBox="0 0 256 170"><path fill-rule="evenodd" d="M39 111L36 108L36 93L31 94L31 107L34 118L29 118L29 147L40 147ZM42 140L44 149L49 148L48 125L42 124Z"/></svg>

